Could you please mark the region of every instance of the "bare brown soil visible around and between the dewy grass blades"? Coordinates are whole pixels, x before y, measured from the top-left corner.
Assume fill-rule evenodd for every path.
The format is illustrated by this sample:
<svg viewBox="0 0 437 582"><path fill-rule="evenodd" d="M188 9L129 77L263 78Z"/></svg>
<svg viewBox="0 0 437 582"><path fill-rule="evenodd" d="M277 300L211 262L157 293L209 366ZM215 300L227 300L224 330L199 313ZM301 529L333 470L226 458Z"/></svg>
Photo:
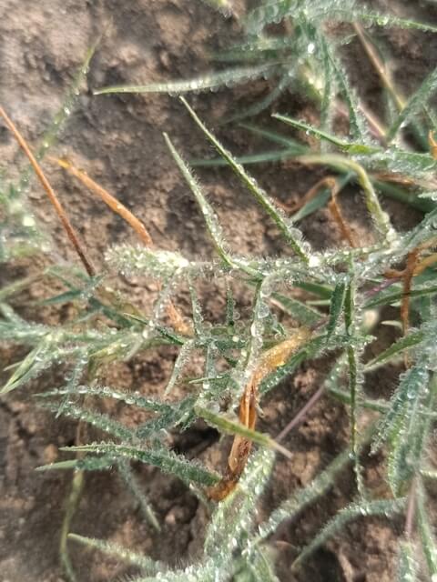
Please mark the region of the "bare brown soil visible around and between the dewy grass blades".
<svg viewBox="0 0 437 582"><path fill-rule="evenodd" d="M242 13L244 3L235 3ZM372 3L397 15L416 16L437 23L437 9L427 2L381 0ZM194 0L0 0L0 103L15 120L31 144L44 134L50 119L62 105L66 89L86 49L106 31L97 49L85 90L74 113L59 136L56 156L68 156L102 186L143 219L158 247L179 249L185 256L208 256L212 249L198 209L168 155L162 132L168 132L189 157L209 155L205 141L193 128L178 99L167 95L93 96L102 85L141 83L188 78L210 70L208 54L239 38L239 23L224 19L207 5ZM396 81L406 94L436 65L437 36L416 32L383 31L381 43L390 46ZM423 47L426 46L426 50ZM374 109L381 96L380 84L371 65L353 42L345 58L351 65L352 81L366 104ZM190 95L198 114L214 128L236 154L259 151L258 138L238 126L220 125L224 115L249 106L268 86L261 81L217 94ZM314 115L302 98L284 95L275 110L296 117ZM261 115L267 122L269 112ZM0 128L2 166L15 177L24 166L15 142ZM47 176L66 205L69 216L85 241L89 255L103 266L107 246L135 242L135 235L101 203L86 194L70 177L45 163ZM229 240L240 253L279 254L286 252L276 228L263 216L249 194L228 170L198 172L218 209ZM298 166L265 165L253 174L272 196L282 201L297 200L322 176ZM292 186L290 186L292 185ZM23 260L2 266L2 281L36 272L52 260L76 261L46 197L34 182L29 199L36 218L53 237L54 249L45 259ZM357 236L369 239L369 225L359 192L342 196L344 212ZM419 219L410 208L385 200L396 226L407 228ZM244 219L242 220L244 216ZM342 244L330 215L320 210L302 223L305 236L319 248ZM147 309L156 286L129 281L133 302ZM25 316L56 323L66 314L45 308L35 316L31 300L47 296L53 288L34 286L15 298ZM222 294L212 286L202 291L207 317L218 317ZM219 299L217 299L219 297ZM187 295L179 297L188 306ZM240 297L244 308L245 297ZM0 369L25 354L2 348ZM110 366L107 383L143 392L159 393L166 383L174 354L165 350ZM328 360L305 364L263 403L259 427L278 434L300 409L326 373ZM383 376L371 376L372 396L388 396L399 370L390 368ZM0 580L2 582L60 582L57 545L71 476L62 472L36 473L35 468L58 457L57 447L72 444L76 426L36 408L32 393L56 381L46 376L0 401ZM127 414L117 410L120 415ZM137 416L124 418L137 423ZM348 437L347 412L328 399L314 406L305 421L284 441L293 453L292 461L279 459L264 498L261 515L267 515L296 487L305 485L345 447ZM202 457L218 466L229 448L229 440L218 442L207 426L197 424L183 435L174 435L174 447L189 456ZM204 507L177 479L153 467L136 467L142 487L162 523L153 533L142 521L138 507L116 474L95 473L86 477L86 488L73 522L76 533L111 539L171 565L188 563L199 555L208 522ZM366 467L366 479L375 490L382 487L381 459ZM351 474L346 471L330 494L310 507L298 520L286 523L272 540L277 553L281 580L301 582L389 582L394 577L396 538L401 523L384 520L357 521L346 527L316 553L305 570L291 573L297 548L308 542L354 495ZM99 553L71 545L81 582L103 582L128 574L121 563ZM133 573L133 571L130 571Z"/></svg>

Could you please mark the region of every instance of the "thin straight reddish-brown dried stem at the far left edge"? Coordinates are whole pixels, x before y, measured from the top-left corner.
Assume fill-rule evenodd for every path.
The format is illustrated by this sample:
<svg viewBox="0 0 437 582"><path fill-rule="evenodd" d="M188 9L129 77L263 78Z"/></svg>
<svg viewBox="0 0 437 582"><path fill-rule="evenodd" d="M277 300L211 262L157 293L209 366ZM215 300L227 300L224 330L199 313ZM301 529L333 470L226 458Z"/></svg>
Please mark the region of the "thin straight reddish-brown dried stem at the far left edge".
<svg viewBox="0 0 437 582"><path fill-rule="evenodd" d="M0 115L4 118L5 125L14 135L15 140L24 151L25 156L27 156L31 166L35 170L36 176L38 177L42 186L46 190L46 195L48 196L52 206L54 206L56 214L59 217L59 220L61 221L62 225L64 226L68 238L70 239L72 245L75 247L76 253L86 269L86 273L89 276L95 276L96 269L92 265L89 258L86 256L85 249L79 242L78 236L76 235L76 231L72 224L70 223L68 216L66 216L66 211L64 207L59 202L59 199L57 198L54 189L52 188L52 186L50 186L50 183L48 182L46 176L44 175L41 166L39 166L38 162L36 161L36 157L32 154L30 147L27 145L25 138L23 137L23 135L20 134L18 129L15 127L13 121L8 117L8 115L6 115L5 109L1 105L0 105Z"/></svg>

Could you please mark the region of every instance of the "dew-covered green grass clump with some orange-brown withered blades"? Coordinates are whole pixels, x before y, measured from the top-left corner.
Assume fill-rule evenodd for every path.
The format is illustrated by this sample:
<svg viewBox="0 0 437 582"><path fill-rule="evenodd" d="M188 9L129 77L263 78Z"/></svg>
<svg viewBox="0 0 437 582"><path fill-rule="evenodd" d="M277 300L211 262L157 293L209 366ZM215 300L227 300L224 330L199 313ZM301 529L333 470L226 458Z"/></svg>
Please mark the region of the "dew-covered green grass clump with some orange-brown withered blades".
<svg viewBox="0 0 437 582"><path fill-rule="evenodd" d="M382 114L382 109L376 113L368 111L352 89L339 56L339 47L350 36L333 34L332 28L325 26L332 22L353 25L348 35L358 35L391 101L387 115ZM269 33L268 26L278 23L283 23L284 29L290 32ZM73 272L71 266L68 270L57 266L50 272L50 276L65 284L66 292L48 298L47 302L76 304L76 316L67 324L54 328L25 321L7 304L7 289L2 291L0 337L29 346L27 356L17 363L3 392L24 386L49 367L67 365L66 382L62 386L48 386L50 389L37 396L39 406L56 415L76 419L79 427L95 426L105 435L100 442L88 443L79 430L76 446L65 449L76 457L40 467L40 470L75 470L61 540L61 557L71 579L75 573L67 556L66 541L86 471L115 468L137 497L150 527L159 528L153 507L130 469L132 461L159 467L178 477L211 510L203 557L176 570L105 540L69 535L71 541L95 547L136 566L140 571L135 578L138 582L152 579L217 582L232 577L278 579L273 554L269 552L269 537L284 520L296 517L304 507L324 495L348 464L354 470L356 481L351 503L306 547L299 549L293 567L304 567L312 552L353 519L371 516L391 519L401 515L405 527L399 542L398 579L419 579L421 571L433 579L437 577L437 548L426 507L427 487L437 475L428 456L437 392L437 255L434 252L437 162L432 137L436 127L429 105L436 87L435 72L413 95L408 98L400 95L364 26L403 26L430 34L437 31L429 25L371 12L351 0L262 3L248 15L245 25L247 36L243 43L219 55L222 60L238 65L191 81L112 87L97 93L186 93L269 75L277 79L277 85L249 114L269 106L290 86L310 95L314 104L320 106L320 125L309 125L290 115L274 116L284 128L291 125L298 132L311 135L315 146L310 148L299 140L292 140L285 132L279 134L269 128L246 125L280 145L280 149L241 159L222 146L188 102L181 99L198 128L199 137L203 135L219 155L219 160L208 164L223 163L234 171L265 210L266 219L278 227L293 256L241 256L238 249L232 248L219 224L213 202L168 135L164 139L169 152L198 203L215 248L216 256L210 260L188 259L181 253L153 246L146 226L91 178L61 160L61 166L101 196L138 234L137 246L121 245L107 250L108 266L121 274L158 279L160 292L153 312L140 313L127 298L116 296L105 287L104 276L93 268L90 272L86 250L77 246L86 273L79 269ZM349 120L348 135L335 133L333 120L337 115ZM287 158L308 168L325 166L330 176L315 185L300 206L284 210L259 186L247 166ZM361 192L363 211L371 217L374 235L371 246L360 245L342 214L340 196L346 184ZM381 193L421 209L422 220L407 232L397 231L381 204ZM299 221L326 204L329 204L333 227L339 229L344 244L316 252L304 240ZM73 234L76 236L74 228ZM212 277L223 280L228 288L226 309L219 323L205 320L198 296L198 281ZM173 299L182 285L188 285L190 290L189 321L180 314ZM252 295L251 315L245 318L236 316L234 290L241 285ZM317 306L298 300L294 289L317 296ZM399 308L399 319L387 323L398 326L401 337L371 361L365 361L364 349L375 339L370 334L378 338L380 333L377 326L369 328L369 316L381 313L383 306ZM291 316L295 325L282 325L281 313ZM99 384L98 371L108 362L125 360L156 346L178 348L162 398ZM203 356L204 370L188 382L183 376L184 366L195 352L197 357ZM324 385L310 397L307 406L290 419L279 435L257 431L257 411L263 397L302 362L322 355L330 355L332 367L327 371ZM400 361L404 369L391 399L371 399L364 388L366 375ZM177 384L186 385L186 396L171 399L168 395ZM151 418L138 426L125 426L99 411L97 406L91 406L99 398L136 406L150 413ZM349 447L333 458L308 486L284 499L263 523L256 524L256 505L269 481L275 456L291 455L280 441L320 398L334 398L346 404L350 416ZM373 416L369 415L370 410ZM216 467L205 467L198 460L189 461L168 447L167 431L185 430L198 418L220 433L234 437L223 475ZM364 451L368 444L371 455L382 447L387 455L386 482L390 494L381 498L366 487L363 479ZM423 560L419 561L418 556L423 556Z"/></svg>

